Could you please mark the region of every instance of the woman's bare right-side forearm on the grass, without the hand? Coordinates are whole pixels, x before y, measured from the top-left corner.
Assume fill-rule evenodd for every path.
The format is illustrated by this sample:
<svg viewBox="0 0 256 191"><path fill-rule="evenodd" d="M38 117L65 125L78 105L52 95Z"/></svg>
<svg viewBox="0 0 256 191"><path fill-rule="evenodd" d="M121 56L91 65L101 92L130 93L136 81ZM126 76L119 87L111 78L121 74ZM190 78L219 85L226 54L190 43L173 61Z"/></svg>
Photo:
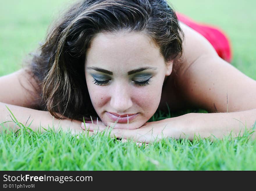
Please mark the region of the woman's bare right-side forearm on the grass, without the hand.
<svg viewBox="0 0 256 191"><path fill-rule="evenodd" d="M230 134L234 138L243 135L246 129L251 130L256 121L256 109L233 113L190 113L177 117L176 122L179 120L184 122L176 135L181 138L193 140L194 136L200 136L222 139ZM252 138L255 138L255 133Z"/></svg>

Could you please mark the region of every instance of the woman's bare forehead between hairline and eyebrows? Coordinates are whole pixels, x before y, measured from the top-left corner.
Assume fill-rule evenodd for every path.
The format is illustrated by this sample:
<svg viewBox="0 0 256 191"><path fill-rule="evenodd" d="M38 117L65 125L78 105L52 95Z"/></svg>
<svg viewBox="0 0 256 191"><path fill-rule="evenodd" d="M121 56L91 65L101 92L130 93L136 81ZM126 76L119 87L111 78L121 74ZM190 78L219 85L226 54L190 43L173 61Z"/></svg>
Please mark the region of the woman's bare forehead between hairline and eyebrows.
<svg viewBox="0 0 256 191"><path fill-rule="evenodd" d="M86 52L88 65L151 65L163 60L152 39L141 33L99 33Z"/></svg>

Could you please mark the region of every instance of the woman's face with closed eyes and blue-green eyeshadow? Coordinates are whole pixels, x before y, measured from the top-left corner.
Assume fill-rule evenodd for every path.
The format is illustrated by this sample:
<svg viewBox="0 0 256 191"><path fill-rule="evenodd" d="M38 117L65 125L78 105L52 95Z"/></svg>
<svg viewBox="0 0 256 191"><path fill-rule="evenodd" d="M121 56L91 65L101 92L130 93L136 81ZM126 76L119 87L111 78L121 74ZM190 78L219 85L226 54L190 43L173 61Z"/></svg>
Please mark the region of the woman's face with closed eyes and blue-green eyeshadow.
<svg viewBox="0 0 256 191"><path fill-rule="evenodd" d="M113 128L145 124L158 108L171 71L172 63L166 64L159 48L140 33L99 33L86 52L90 99L101 121Z"/></svg>

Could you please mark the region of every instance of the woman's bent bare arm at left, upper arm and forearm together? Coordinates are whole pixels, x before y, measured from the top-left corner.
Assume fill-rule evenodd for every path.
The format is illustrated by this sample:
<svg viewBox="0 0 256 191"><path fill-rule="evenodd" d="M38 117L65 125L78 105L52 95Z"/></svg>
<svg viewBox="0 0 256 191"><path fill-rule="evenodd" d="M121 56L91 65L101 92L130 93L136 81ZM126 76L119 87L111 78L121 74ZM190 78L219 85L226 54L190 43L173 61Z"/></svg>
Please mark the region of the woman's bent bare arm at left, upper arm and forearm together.
<svg viewBox="0 0 256 191"><path fill-rule="evenodd" d="M37 86L35 80L24 69L0 77L0 86L0 124L6 122L0 125L0 131L2 131L3 125L10 130L19 128L15 122L12 122L7 107L20 123L28 126L33 120L30 126L32 130L38 130L40 126L48 129L49 125L49 127L54 126L55 129L60 126L63 130L70 128L73 133L83 131L81 122L76 120L71 122L70 119L58 120L47 111L34 109L38 106L40 96L35 91ZM40 130L44 131L43 128Z"/></svg>

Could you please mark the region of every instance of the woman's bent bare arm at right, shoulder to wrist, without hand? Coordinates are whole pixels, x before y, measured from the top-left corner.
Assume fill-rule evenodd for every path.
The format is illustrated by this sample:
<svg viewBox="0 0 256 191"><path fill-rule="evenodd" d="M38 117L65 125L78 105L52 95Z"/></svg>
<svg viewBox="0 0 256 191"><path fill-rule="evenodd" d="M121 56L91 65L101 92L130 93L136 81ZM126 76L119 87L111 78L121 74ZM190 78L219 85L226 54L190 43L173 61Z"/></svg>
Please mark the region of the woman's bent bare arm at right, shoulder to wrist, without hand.
<svg viewBox="0 0 256 191"><path fill-rule="evenodd" d="M177 135L184 133L190 139L194 135L223 138L232 132L235 137L245 128L253 127L256 81L221 59L205 38L184 27L184 60L187 62L179 70L176 83L186 101L212 113L180 116L182 122L177 121L180 123Z"/></svg>

